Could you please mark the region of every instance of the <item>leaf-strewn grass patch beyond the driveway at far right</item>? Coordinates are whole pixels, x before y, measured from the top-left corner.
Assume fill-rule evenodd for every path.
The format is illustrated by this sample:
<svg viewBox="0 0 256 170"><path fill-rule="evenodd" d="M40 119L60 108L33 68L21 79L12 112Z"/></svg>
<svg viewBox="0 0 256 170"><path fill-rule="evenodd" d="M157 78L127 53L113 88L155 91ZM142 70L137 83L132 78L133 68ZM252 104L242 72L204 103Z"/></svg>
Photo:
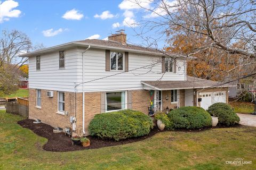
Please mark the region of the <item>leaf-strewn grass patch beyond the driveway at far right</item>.
<svg viewBox="0 0 256 170"><path fill-rule="evenodd" d="M250 102L230 101L229 104L234 108L236 113L251 114L254 112L254 104Z"/></svg>

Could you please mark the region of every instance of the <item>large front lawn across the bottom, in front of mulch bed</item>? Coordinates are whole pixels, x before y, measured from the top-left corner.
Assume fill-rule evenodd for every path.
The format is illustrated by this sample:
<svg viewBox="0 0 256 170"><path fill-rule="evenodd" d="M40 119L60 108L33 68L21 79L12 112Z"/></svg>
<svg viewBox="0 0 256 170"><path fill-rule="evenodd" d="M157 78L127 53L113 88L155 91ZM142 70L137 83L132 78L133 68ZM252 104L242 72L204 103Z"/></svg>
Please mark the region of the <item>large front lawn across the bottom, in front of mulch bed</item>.
<svg viewBox="0 0 256 170"><path fill-rule="evenodd" d="M44 151L47 139L21 128L22 118L0 111L0 169L256 169L256 128L162 132L122 146ZM251 165L226 164L236 158Z"/></svg>

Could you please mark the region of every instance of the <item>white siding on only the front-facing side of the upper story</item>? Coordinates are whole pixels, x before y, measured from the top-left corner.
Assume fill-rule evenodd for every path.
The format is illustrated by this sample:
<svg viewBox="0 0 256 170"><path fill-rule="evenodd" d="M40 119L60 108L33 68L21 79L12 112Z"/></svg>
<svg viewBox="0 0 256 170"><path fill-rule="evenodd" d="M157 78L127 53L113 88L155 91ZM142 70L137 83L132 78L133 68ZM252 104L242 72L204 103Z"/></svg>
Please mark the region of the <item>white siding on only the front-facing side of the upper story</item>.
<svg viewBox="0 0 256 170"><path fill-rule="evenodd" d="M79 49L81 57L78 60L78 82L82 82L82 52L84 50L85 49ZM105 50L103 49L92 48L84 53L84 82L86 82L84 83L85 92L117 91L117 89L139 90L143 89L141 81L156 81L159 79L163 81L186 80L185 61L183 59L177 59L177 73L166 73L163 75L161 63L156 64L154 67L149 66L156 61L161 61L161 56L154 57L152 55L135 54L129 52L129 70L132 71L116 74L116 72L106 71L105 57ZM146 67L137 69L143 66ZM77 87L77 90L82 91L82 84L81 86Z"/></svg>

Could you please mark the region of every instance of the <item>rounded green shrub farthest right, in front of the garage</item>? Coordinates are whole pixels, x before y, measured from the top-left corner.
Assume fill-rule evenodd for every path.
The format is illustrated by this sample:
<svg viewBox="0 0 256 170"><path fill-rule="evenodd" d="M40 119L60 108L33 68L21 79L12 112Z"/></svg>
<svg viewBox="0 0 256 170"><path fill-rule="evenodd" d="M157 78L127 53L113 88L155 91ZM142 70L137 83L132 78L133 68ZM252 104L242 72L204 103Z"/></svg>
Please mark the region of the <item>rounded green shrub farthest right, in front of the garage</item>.
<svg viewBox="0 0 256 170"><path fill-rule="evenodd" d="M214 103L208 108L208 112L212 116L218 117L220 124L229 126L240 121L240 118L237 116L237 114L226 103Z"/></svg>

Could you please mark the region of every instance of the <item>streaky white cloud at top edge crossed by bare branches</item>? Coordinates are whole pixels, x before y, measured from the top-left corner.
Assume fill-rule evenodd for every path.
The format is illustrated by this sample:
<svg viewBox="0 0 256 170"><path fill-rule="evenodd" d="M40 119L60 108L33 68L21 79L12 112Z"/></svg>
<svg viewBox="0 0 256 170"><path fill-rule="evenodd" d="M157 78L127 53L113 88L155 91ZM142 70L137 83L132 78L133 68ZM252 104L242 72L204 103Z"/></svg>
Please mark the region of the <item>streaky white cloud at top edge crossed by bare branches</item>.
<svg viewBox="0 0 256 170"><path fill-rule="evenodd" d="M150 14L143 16L143 18L156 18L158 16L167 15L166 6L169 12L173 12L177 10L177 5L178 2L176 0L171 2L166 0L164 1L164 3L161 2L161 4L159 4L158 7L155 8L155 10L153 10L154 12L151 12Z"/></svg>

